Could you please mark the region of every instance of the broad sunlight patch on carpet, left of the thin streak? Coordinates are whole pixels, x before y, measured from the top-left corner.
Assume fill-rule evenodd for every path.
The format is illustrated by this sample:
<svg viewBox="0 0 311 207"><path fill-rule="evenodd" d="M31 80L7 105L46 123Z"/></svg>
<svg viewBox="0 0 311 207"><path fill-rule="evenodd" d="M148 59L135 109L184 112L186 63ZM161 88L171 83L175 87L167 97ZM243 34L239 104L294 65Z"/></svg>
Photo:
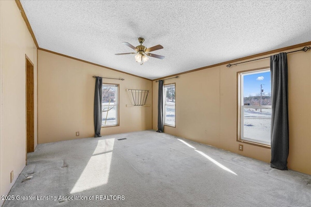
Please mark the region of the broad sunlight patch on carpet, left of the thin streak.
<svg viewBox="0 0 311 207"><path fill-rule="evenodd" d="M87 191L108 182L114 142L114 138L98 141L93 155L70 191L71 194Z"/></svg>

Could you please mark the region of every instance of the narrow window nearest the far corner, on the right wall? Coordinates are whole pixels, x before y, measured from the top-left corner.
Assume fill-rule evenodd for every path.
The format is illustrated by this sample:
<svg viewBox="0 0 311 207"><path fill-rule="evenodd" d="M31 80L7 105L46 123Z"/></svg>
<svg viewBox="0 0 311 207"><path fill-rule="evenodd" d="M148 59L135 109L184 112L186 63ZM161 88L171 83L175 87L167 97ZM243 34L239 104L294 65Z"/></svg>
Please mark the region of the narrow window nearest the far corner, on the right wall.
<svg viewBox="0 0 311 207"><path fill-rule="evenodd" d="M175 127L175 83L164 85L164 124Z"/></svg>

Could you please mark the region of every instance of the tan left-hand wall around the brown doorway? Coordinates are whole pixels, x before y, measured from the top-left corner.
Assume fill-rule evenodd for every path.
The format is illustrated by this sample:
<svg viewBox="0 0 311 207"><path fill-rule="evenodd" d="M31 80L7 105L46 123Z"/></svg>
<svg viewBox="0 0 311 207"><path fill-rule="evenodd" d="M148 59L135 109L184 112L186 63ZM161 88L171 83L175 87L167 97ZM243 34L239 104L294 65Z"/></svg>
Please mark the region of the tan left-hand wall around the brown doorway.
<svg viewBox="0 0 311 207"><path fill-rule="evenodd" d="M6 195L26 159L25 54L35 64L35 146L37 144L37 53L15 1L0 1L0 32L0 195ZM12 183L11 171L15 175Z"/></svg>

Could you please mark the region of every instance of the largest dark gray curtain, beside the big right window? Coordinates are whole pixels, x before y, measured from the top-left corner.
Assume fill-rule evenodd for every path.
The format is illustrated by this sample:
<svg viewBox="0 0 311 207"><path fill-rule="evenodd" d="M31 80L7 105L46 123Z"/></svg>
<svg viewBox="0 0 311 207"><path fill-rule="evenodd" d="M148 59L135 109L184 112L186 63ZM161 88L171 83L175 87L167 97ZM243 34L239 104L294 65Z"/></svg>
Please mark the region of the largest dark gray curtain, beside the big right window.
<svg viewBox="0 0 311 207"><path fill-rule="evenodd" d="M272 88L271 167L287 170L289 125L286 52L270 56L270 70Z"/></svg>

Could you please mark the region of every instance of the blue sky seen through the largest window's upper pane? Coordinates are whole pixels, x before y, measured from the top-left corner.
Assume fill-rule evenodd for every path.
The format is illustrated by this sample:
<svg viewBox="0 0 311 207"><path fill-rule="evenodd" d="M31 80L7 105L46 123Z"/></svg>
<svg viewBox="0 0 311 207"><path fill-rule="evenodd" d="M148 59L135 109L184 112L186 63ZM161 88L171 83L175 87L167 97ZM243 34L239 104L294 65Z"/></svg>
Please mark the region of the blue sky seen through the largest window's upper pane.
<svg viewBox="0 0 311 207"><path fill-rule="evenodd" d="M260 84L265 94L271 93L271 76L270 71L251 75L244 75L244 97L256 96L260 94Z"/></svg>

